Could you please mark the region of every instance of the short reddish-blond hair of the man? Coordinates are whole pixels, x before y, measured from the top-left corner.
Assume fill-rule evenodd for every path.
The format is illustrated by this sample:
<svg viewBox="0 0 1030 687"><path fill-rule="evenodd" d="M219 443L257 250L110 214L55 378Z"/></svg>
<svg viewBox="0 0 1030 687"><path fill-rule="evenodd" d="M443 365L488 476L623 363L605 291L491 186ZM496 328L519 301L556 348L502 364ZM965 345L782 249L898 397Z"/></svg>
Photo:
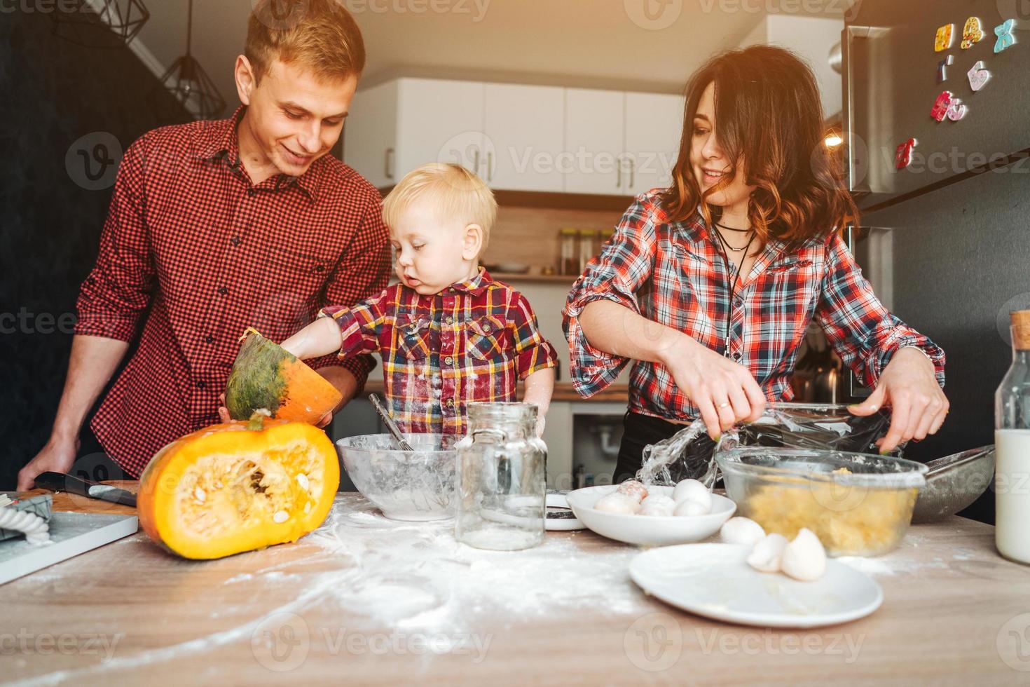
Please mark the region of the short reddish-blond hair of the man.
<svg viewBox="0 0 1030 687"><path fill-rule="evenodd" d="M243 54L258 79L276 59L325 80L359 77L365 69L362 31L339 0L260 0Z"/></svg>

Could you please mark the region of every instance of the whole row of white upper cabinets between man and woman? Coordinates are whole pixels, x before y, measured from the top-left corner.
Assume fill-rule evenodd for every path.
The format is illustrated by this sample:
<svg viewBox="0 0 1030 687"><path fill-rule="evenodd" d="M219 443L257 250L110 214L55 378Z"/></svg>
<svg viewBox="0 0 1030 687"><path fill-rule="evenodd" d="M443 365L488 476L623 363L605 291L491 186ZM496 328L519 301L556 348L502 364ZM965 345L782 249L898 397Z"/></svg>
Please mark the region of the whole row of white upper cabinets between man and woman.
<svg viewBox="0 0 1030 687"><path fill-rule="evenodd" d="M682 109L667 94L399 78L355 96L344 160L380 188L440 161L495 190L636 195L670 182Z"/></svg>

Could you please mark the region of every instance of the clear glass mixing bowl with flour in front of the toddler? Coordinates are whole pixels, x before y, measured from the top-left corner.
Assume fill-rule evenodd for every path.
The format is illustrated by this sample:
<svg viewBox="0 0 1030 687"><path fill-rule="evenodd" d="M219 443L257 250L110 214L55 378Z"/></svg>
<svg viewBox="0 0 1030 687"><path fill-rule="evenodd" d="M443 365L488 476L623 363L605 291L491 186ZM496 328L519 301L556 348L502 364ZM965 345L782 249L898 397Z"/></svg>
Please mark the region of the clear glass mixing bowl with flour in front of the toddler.
<svg viewBox="0 0 1030 687"><path fill-rule="evenodd" d="M454 515L457 451L450 435L406 434L415 449L402 451L389 435L336 442L357 490L388 518L442 520Z"/></svg>

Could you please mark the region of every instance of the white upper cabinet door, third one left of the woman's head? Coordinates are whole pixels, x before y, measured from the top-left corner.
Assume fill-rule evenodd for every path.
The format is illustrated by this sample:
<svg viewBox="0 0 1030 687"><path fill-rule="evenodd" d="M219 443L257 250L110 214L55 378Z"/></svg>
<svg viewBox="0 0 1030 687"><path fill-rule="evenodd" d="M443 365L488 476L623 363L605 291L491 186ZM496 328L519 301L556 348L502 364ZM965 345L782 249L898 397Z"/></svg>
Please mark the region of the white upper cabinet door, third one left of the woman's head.
<svg viewBox="0 0 1030 687"><path fill-rule="evenodd" d="M487 83L485 177L491 188L561 192L564 90Z"/></svg>

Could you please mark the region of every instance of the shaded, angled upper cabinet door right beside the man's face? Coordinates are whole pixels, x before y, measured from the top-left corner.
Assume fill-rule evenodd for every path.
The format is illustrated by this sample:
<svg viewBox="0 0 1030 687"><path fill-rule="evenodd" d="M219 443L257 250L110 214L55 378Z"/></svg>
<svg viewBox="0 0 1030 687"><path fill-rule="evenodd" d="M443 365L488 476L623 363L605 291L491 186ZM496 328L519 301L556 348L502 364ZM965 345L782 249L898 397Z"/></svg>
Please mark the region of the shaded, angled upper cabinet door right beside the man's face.
<svg viewBox="0 0 1030 687"><path fill-rule="evenodd" d="M397 81L358 91L343 130L343 161L378 188L397 183Z"/></svg>

